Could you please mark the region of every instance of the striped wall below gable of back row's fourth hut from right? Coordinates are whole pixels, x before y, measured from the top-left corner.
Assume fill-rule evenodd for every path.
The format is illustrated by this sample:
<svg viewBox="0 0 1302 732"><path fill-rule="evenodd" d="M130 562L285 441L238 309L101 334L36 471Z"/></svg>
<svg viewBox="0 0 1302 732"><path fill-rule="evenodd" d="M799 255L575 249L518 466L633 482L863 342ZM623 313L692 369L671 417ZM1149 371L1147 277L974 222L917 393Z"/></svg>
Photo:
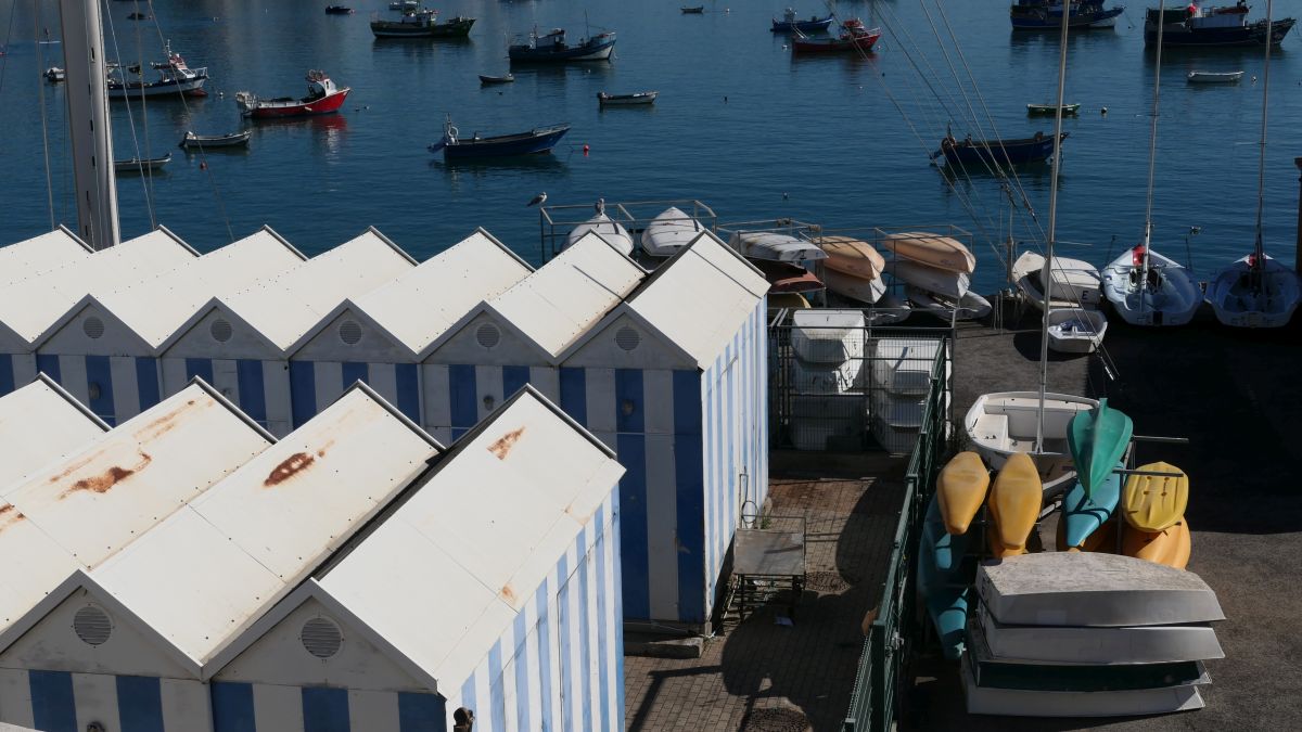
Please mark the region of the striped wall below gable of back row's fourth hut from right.
<svg viewBox="0 0 1302 732"><path fill-rule="evenodd" d="M283 438L292 429L289 365L285 361L160 358L159 369L164 397L199 376L272 435ZM322 409L337 396L322 404Z"/></svg>

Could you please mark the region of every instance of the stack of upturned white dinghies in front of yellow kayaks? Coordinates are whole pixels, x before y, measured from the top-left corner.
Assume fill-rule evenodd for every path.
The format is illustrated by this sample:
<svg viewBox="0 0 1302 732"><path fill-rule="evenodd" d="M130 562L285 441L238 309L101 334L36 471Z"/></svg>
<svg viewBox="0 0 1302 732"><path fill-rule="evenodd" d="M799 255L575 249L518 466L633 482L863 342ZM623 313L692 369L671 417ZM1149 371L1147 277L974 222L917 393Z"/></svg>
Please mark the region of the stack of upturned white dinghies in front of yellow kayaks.
<svg viewBox="0 0 1302 732"><path fill-rule="evenodd" d="M1163 714L1204 706L1224 658L1216 594L1191 572L1130 556L1047 552L976 570L962 659L967 711Z"/></svg>

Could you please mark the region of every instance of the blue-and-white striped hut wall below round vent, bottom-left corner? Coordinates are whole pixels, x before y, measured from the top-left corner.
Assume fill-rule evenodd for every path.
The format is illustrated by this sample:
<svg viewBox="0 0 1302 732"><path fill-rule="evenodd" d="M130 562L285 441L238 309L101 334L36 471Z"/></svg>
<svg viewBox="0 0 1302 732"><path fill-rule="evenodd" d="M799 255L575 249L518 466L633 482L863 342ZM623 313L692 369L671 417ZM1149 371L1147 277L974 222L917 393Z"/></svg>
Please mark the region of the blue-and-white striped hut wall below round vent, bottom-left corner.
<svg viewBox="0 0 1302 732"><path fill-rule="evenodd" d="M146 676L0 668L0 722L43 732L211 732L208 686Z"/></svg>

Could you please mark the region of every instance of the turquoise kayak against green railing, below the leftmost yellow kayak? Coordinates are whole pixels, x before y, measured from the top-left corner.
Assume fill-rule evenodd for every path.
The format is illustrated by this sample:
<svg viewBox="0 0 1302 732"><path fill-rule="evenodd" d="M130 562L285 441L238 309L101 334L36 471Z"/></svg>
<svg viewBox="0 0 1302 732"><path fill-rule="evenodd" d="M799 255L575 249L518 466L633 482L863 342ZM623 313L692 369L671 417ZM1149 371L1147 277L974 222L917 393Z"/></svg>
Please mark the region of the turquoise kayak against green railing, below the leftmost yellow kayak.
<svg viewBox="0 0 1302 732"><path fill-rule="evenodd" d="M922 524L922 550L918 555L918 591L927 606L927 615L936 626L945 658L956 660L963 653L963 629L967 625L967 586L963 556L969 537L945 530L936 498L931 498L927 518Z"/></svg>

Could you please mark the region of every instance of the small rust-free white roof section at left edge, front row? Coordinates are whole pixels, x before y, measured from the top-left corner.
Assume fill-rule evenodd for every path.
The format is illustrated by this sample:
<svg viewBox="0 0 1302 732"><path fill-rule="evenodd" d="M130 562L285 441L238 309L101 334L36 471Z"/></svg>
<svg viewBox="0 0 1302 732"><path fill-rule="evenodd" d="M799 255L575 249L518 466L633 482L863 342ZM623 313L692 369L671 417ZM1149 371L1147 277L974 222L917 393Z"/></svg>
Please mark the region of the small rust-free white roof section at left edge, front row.
<svg viewBox="0 0 1302 732"><path fill-rule="evenodd" d="M0 491L104 436L99 417L40 374L0 396Z"/></svg>

